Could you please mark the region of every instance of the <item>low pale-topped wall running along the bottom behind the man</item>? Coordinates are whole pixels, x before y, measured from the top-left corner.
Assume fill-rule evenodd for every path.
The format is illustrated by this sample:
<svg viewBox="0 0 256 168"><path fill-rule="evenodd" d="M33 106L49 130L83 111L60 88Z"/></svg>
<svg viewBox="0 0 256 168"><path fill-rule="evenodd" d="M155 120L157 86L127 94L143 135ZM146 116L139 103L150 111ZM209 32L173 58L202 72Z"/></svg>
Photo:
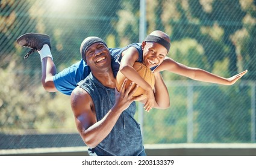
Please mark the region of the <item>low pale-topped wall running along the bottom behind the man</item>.
<svg viewBox="0 0 256 168"><path fill-rule="evenodd" d="M256 156L255 143L178 143L145 145L148 156ZM1 150L0 155L87 156L87 147Z"/></svg>

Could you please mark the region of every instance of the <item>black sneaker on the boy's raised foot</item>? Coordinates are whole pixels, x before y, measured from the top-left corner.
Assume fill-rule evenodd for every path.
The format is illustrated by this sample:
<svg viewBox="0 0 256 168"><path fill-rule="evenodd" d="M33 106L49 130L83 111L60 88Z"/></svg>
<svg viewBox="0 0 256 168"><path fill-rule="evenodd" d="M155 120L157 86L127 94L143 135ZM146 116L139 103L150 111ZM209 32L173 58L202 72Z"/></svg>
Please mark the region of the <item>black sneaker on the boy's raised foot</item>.
<svg viewBox="0 0 256 168"><path fill-rule="evenodd" d="M43 48L44 44L48 44L51 49L51 42L49 35L47 34L37 34L37 33L27 33L21 35L16 40L17 44L22 47L28 47L31 50L24 56L24 59L28 58L31 53L39 51Z"/></svg>

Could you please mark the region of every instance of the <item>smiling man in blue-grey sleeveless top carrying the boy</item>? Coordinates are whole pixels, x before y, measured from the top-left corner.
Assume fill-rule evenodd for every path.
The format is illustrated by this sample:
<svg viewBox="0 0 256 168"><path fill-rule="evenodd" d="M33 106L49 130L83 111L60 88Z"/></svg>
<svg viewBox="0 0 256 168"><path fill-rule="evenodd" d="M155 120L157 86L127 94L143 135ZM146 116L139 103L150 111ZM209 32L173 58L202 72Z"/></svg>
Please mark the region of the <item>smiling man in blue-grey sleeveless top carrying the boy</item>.
<svg viewBox="0 0 256 168"><path fill-rule="evenodd" d="M134 90L122 88L120 93L115 92L111 56L104 41L96 37L84 41L86 62L92 73L73 90L70 102L89 154L145 155L140 127L133 118Z"/></svg>

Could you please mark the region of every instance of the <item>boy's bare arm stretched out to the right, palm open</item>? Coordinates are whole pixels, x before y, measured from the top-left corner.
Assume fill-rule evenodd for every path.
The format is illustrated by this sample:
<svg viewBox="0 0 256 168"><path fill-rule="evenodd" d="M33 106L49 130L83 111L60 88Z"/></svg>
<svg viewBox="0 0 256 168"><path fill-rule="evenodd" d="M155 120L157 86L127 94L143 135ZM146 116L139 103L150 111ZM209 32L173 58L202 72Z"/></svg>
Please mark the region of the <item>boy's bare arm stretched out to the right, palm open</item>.
<svg viewBox="0 0 256 168"><path fill-rule="evenodd" d="M202 70L200 68L191 68L186 65L180 64L173 59L166 57L164 61L155 69L158 71L170 71L172 73L180 74L181 76L189 77L193 80L199 80L202 82L217 83L222 85L233 85L237 82L242 76L247 73L247 70L242 73L236 74L233 77L225 78L217 76L216 74L210 73L208 71Z"/></svg>

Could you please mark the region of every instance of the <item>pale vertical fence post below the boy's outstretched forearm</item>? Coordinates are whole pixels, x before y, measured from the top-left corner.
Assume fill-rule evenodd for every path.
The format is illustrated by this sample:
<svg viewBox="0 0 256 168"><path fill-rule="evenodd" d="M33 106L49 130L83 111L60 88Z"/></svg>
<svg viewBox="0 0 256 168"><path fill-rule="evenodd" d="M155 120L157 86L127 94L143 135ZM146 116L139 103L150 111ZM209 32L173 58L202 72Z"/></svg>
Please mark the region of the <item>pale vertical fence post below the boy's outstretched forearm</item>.
<svg viewBox="0 0 256 168"><path fill-rule="evenodd" d="M193 142L193 84L187 86L187 143Z"/></svg>

